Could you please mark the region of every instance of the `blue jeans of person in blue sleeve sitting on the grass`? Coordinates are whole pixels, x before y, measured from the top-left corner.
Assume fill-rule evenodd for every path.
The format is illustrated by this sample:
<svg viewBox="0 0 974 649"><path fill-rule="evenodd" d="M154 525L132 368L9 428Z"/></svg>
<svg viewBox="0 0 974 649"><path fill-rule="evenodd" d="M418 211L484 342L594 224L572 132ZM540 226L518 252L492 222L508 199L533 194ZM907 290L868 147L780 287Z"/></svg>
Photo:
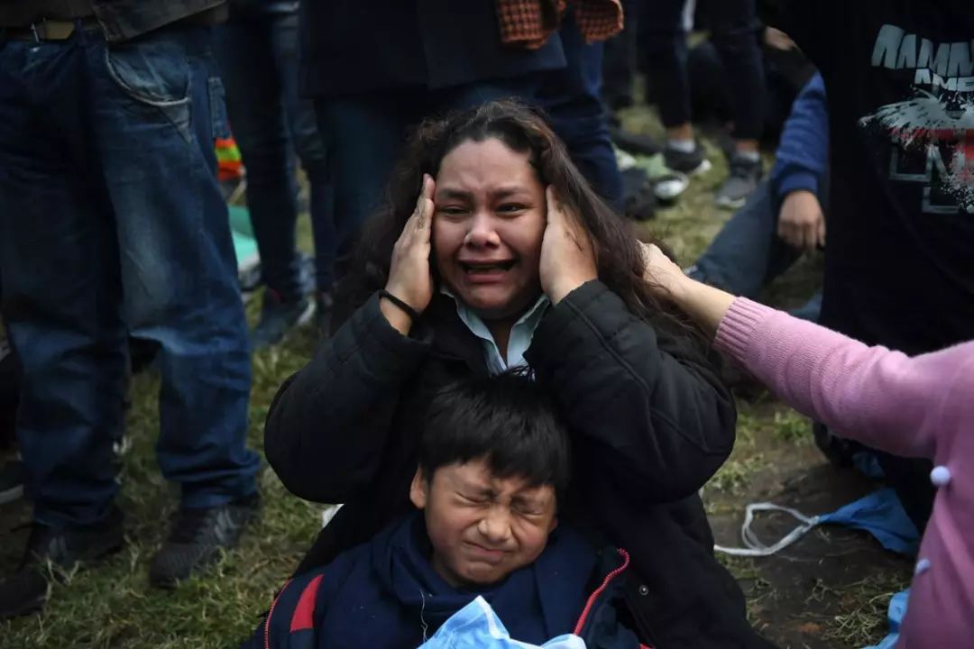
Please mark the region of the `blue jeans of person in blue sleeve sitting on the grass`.
<svg viewBox="0 0 974 649"><path fill-rule="evenodd" d="M801 250L777 234L780 208L768 181L763 180L696 260L691 276L733 295L757 299L771 280L802 256ZM821 301L819 291L793 314L815 321Z"/></svg>

